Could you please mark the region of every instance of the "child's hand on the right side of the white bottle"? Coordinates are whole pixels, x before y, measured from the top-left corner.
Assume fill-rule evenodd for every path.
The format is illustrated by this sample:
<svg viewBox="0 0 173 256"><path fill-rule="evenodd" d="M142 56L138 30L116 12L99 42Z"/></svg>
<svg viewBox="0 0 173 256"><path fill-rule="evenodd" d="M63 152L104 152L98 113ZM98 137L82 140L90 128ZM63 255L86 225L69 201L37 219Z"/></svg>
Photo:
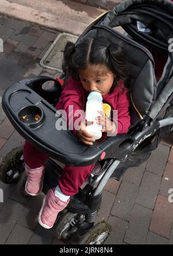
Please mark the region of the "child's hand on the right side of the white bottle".
<svg viewBox="0 0 173 256"><path fill-rule="evenodd" d="M116 125L114 122L112 122L104 112L98 111L101 116L96 117L97 124L101 124L103 129L101 130L102 132L109 132L109 133L114 133L116 131Z"/></svg>

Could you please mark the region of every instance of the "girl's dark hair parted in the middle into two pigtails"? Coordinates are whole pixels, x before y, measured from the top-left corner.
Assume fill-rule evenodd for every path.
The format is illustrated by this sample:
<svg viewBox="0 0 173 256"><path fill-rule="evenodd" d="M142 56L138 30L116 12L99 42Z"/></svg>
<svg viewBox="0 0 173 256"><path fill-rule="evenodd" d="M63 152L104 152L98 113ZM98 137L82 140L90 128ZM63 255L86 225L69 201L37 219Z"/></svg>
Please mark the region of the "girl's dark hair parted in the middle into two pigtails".
<svg viewBox="0 0 173 256"><path fill-rule="evenodd" d="M116 77L114 86L119 80L129 79L129 65L127 53L123 42L119 39L86 37L77 44L67 42L63 52L62 69L74 79L79 79L79 70L86 69L88 65L106 65ZM104 72L104 69L100 72Z"/></svg>

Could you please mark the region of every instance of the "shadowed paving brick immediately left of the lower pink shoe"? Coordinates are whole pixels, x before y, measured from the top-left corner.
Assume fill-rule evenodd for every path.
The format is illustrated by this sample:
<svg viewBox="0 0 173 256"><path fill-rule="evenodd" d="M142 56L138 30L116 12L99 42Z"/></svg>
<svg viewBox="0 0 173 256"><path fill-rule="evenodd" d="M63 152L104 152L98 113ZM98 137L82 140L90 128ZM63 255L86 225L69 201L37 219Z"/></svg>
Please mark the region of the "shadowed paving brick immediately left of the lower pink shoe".
<svg viewBox="0 0 173 256"><path fill-rule="evenodd" d="M36 197L31 197L25 206L24 212L18 220L18 224L33 230L36 228L38 223L38 214L43 203L43 197L43 194Z"/></svg>

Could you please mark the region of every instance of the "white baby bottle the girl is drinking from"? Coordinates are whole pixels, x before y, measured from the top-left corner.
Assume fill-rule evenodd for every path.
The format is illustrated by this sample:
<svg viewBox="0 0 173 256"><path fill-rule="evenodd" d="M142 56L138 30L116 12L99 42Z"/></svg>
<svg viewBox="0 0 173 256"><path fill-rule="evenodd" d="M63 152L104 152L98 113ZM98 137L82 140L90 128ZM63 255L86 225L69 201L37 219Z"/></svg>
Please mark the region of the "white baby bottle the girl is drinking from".
<svg viewBox="0 0 173 256"><path fill-rule="evenodd" d="M96 140L102 136L102 125L97 124L96 117L101 116L98 110L103 111L103 98L100 92L92 91L88 95L88 101L86 102L86 120L94 123L86 127L86 131L91 134Z"/></svg>

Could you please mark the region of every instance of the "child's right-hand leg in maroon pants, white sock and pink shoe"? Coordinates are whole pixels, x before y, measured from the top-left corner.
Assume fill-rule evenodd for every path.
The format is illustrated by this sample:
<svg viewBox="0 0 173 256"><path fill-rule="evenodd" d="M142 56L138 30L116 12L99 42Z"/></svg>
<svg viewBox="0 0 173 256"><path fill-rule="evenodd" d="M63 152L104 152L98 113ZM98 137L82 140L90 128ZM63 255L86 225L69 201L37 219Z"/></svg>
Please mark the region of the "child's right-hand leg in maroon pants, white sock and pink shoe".
<svg viewBox="0 0 173 256"><path fill-rule="evenodd" d="M44 228L52 228L57 215L69 203L70 195L78 193L78 188L88 179L95 165L74 167L65 166L59 185L47 192L42 209L39 213L39 223Z"/></svg>

